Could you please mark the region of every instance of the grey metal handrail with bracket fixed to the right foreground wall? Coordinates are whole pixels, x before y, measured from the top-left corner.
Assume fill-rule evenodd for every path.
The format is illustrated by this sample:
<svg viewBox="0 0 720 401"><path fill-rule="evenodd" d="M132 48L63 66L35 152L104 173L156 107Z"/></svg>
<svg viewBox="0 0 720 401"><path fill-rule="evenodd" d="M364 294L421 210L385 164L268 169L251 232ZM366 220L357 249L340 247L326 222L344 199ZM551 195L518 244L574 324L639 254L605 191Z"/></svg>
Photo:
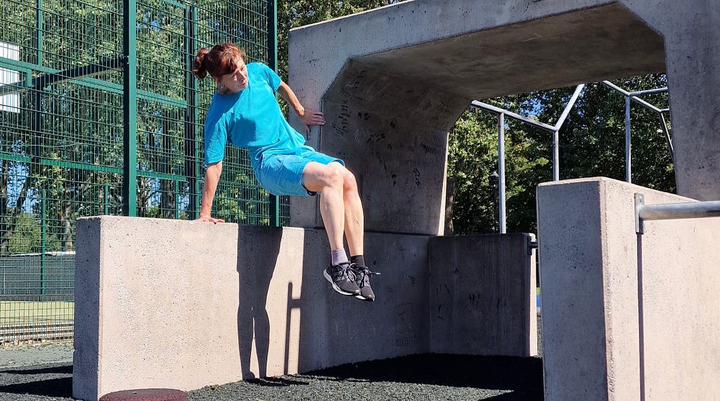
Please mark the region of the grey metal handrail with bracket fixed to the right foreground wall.
<svg viewBox="0 0 720 401"><path fill-rule="evenodd" d="M644 233L645 220L696 219L720 217L720 201L645 204L643 194L635 194L635 232Z"/></svg>

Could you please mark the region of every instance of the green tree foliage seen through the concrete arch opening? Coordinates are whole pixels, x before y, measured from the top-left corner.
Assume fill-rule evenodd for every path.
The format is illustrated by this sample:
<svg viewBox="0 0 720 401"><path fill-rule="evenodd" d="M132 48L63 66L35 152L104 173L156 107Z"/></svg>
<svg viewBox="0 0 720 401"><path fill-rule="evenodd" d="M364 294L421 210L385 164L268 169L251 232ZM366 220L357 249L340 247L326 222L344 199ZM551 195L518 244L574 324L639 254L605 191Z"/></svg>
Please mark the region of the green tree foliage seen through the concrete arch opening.
<svg viewBox="0 0 720 401"><path fill-rule="evenodd" d="M639 76L615 82L639 91L666 86L664 75ZM554 124L572 96L572 88L491 99L495 106L532 114ZM667 107L667 94L643 99ZM656 112L631 104L632 181L675 192L675 175ZM498 167L497 117L469 110L449 138L446 233L497 232L497 199L487 177ZM625 100L603 84L590 84L559 132L560 179L607 176L625 179ZM536 232L535 188L552 180L552 133L505 118L506 213L508 232Z"/></svg>

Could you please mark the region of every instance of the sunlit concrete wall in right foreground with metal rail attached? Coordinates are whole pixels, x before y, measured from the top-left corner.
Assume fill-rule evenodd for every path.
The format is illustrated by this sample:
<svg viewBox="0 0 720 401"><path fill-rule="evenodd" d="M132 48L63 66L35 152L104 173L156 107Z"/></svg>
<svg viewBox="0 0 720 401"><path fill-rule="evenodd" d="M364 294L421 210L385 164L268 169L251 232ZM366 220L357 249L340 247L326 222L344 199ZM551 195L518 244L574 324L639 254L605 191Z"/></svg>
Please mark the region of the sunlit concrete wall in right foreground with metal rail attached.
<svg viewBox="0 0 720 401"><path fill-rule="evenodd" d="M602 178L538 187L546 400L720 398L720 218L638 235L635 193L692 201Z"/></svg>

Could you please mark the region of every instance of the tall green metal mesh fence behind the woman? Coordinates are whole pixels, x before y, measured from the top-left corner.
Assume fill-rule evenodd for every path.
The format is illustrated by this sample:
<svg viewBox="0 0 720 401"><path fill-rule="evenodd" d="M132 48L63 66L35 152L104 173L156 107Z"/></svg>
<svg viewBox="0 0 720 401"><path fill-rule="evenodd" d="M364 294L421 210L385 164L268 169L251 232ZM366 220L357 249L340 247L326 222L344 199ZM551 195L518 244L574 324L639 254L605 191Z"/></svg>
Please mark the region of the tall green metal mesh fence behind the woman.
<svg viewBox="0 0 720 401"><path fill-rule="evenodd" d="M194 54L235 42L274 67L275 7L0 1L0 343L71 333L78 217L197 217L215 87L192 76ZM261 189L236 148L215 199L214 215L230 222L289 216L288 199Z"/></svg>

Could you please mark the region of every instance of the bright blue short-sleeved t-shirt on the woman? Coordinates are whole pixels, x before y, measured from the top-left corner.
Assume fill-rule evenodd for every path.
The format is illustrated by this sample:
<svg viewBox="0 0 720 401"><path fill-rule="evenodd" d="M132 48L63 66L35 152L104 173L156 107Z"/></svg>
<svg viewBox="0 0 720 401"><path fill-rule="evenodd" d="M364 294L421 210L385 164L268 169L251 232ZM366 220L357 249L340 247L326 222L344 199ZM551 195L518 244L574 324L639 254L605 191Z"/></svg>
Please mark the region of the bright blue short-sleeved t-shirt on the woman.
<svg viewBox="0 0 720 401"><path fill-rule="evenodd" d="M250 63L248 86L236 94L215 93L205 119L205 164L222 161L225 143L247 148L254 170L263 155L292 154L305 144L280 109L280 77L263 63Z"/></svg>

